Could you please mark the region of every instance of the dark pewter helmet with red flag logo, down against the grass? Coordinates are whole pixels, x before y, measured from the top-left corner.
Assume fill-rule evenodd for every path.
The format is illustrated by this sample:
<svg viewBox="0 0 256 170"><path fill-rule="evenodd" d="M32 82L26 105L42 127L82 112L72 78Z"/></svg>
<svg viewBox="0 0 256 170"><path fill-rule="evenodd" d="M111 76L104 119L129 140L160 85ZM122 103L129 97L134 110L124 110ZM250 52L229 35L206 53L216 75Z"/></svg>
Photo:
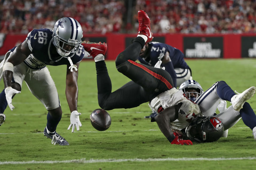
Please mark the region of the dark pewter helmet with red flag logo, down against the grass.
<svg viewBox="0 0 256 170"><path fill-rule="evenodd" d="M221 120L214 116L203 116L193 120L186 128L186 135L197 142L215 142L223 134Z"/></svg>

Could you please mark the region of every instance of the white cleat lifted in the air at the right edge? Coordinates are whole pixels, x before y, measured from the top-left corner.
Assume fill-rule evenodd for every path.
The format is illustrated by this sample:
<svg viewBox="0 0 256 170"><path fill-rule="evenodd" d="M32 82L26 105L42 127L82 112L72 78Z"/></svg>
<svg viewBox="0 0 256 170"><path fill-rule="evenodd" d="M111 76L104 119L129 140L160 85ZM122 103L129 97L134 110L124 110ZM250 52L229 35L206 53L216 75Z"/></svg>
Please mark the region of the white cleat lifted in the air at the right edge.
<svg viewBox="0 0 256 170"><path fill-rule="evenodd" d="M247 90L243 91L242 93L238 95L234 95L231 98L231 103L233 105L233 108L236 111L240 111L240 109L243 108L243 104L245 104L245 101L251 99L251 97L253 97L253 95L255 94L255 91L256 91L256 87L252 86Z"/></svg>

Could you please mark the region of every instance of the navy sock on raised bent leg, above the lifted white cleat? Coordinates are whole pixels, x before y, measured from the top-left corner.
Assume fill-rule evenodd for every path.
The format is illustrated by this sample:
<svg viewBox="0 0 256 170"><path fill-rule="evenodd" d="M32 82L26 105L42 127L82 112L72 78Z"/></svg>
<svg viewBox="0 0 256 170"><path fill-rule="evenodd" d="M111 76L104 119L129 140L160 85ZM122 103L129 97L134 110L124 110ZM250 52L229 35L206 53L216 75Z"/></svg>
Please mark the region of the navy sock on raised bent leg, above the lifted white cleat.
<svg viewBox="0 0 256 170"><path fill-rule="evenodd" d="M235 95L235 92L224 81L219 81L217 85L217 94L223 100L231 101L231 98Z"/></svg>

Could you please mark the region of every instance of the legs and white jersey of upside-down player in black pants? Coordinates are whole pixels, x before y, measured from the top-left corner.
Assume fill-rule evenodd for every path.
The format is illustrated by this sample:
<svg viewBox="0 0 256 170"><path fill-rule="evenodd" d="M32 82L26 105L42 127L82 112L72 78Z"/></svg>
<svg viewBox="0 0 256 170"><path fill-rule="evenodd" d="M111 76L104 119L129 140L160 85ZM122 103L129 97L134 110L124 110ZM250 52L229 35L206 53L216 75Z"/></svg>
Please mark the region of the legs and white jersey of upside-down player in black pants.
<svg viewBox="0 0 256 170"><path fill-rule="evenodd" d="M111 80L104 61L106 45L95 44L96 49L91 50L90 47L93 44L83 44L85 50L95 60L99 106L105 110L134 108L151 101L159 94L164 94L163 97L170 100L171 105L179 104L179 109L183 110L178 114L178 119L195 119L198 114L201 114L199 106L187 99L182 91L173 86L173 80L167 71L135 62L145 43L153 39L150 32L150 19L147 14L144 11L139 11L138 19L138 36L117 56L115 61L117 70L132 81L114 92L111 92ZM160 100L161 98L155 99L155 102L161 103Z"/></svg>

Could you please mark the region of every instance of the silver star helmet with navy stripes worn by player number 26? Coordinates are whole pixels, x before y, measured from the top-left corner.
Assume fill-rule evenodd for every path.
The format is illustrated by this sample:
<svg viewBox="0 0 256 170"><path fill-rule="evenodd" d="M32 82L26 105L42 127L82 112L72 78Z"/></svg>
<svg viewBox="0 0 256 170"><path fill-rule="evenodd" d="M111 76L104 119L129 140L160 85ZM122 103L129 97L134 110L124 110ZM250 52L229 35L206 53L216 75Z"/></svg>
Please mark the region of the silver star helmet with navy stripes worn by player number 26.
<svg viewBox="0 0 256 170"><path fill-rule="evenodd" d="M53 45L62 57L72 57L77 52L83 37L82 27L73 18L59 19L53 27ZM73 55L70 55L73 54Z"/></svg>

